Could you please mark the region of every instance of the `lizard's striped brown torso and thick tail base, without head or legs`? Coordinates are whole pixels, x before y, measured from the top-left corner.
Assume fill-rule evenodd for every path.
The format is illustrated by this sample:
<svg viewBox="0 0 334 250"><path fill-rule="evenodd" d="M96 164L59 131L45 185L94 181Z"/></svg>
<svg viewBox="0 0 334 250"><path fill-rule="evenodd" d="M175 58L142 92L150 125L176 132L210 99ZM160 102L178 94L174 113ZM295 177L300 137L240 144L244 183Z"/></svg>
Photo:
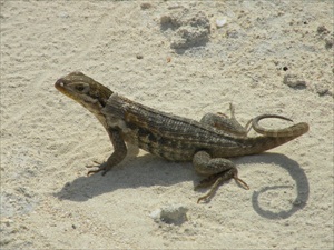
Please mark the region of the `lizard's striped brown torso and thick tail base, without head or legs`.
<svg viewBox="0 0 334 250"><path fill-rule="evenodd" d="M308 130L292 126L291 137L240 138L198 121L161 112L114 93L101 110L110 128L120 129L126 141L173 161L189 161L205 150L213 157L258 153L283 144Z"/></svg>

